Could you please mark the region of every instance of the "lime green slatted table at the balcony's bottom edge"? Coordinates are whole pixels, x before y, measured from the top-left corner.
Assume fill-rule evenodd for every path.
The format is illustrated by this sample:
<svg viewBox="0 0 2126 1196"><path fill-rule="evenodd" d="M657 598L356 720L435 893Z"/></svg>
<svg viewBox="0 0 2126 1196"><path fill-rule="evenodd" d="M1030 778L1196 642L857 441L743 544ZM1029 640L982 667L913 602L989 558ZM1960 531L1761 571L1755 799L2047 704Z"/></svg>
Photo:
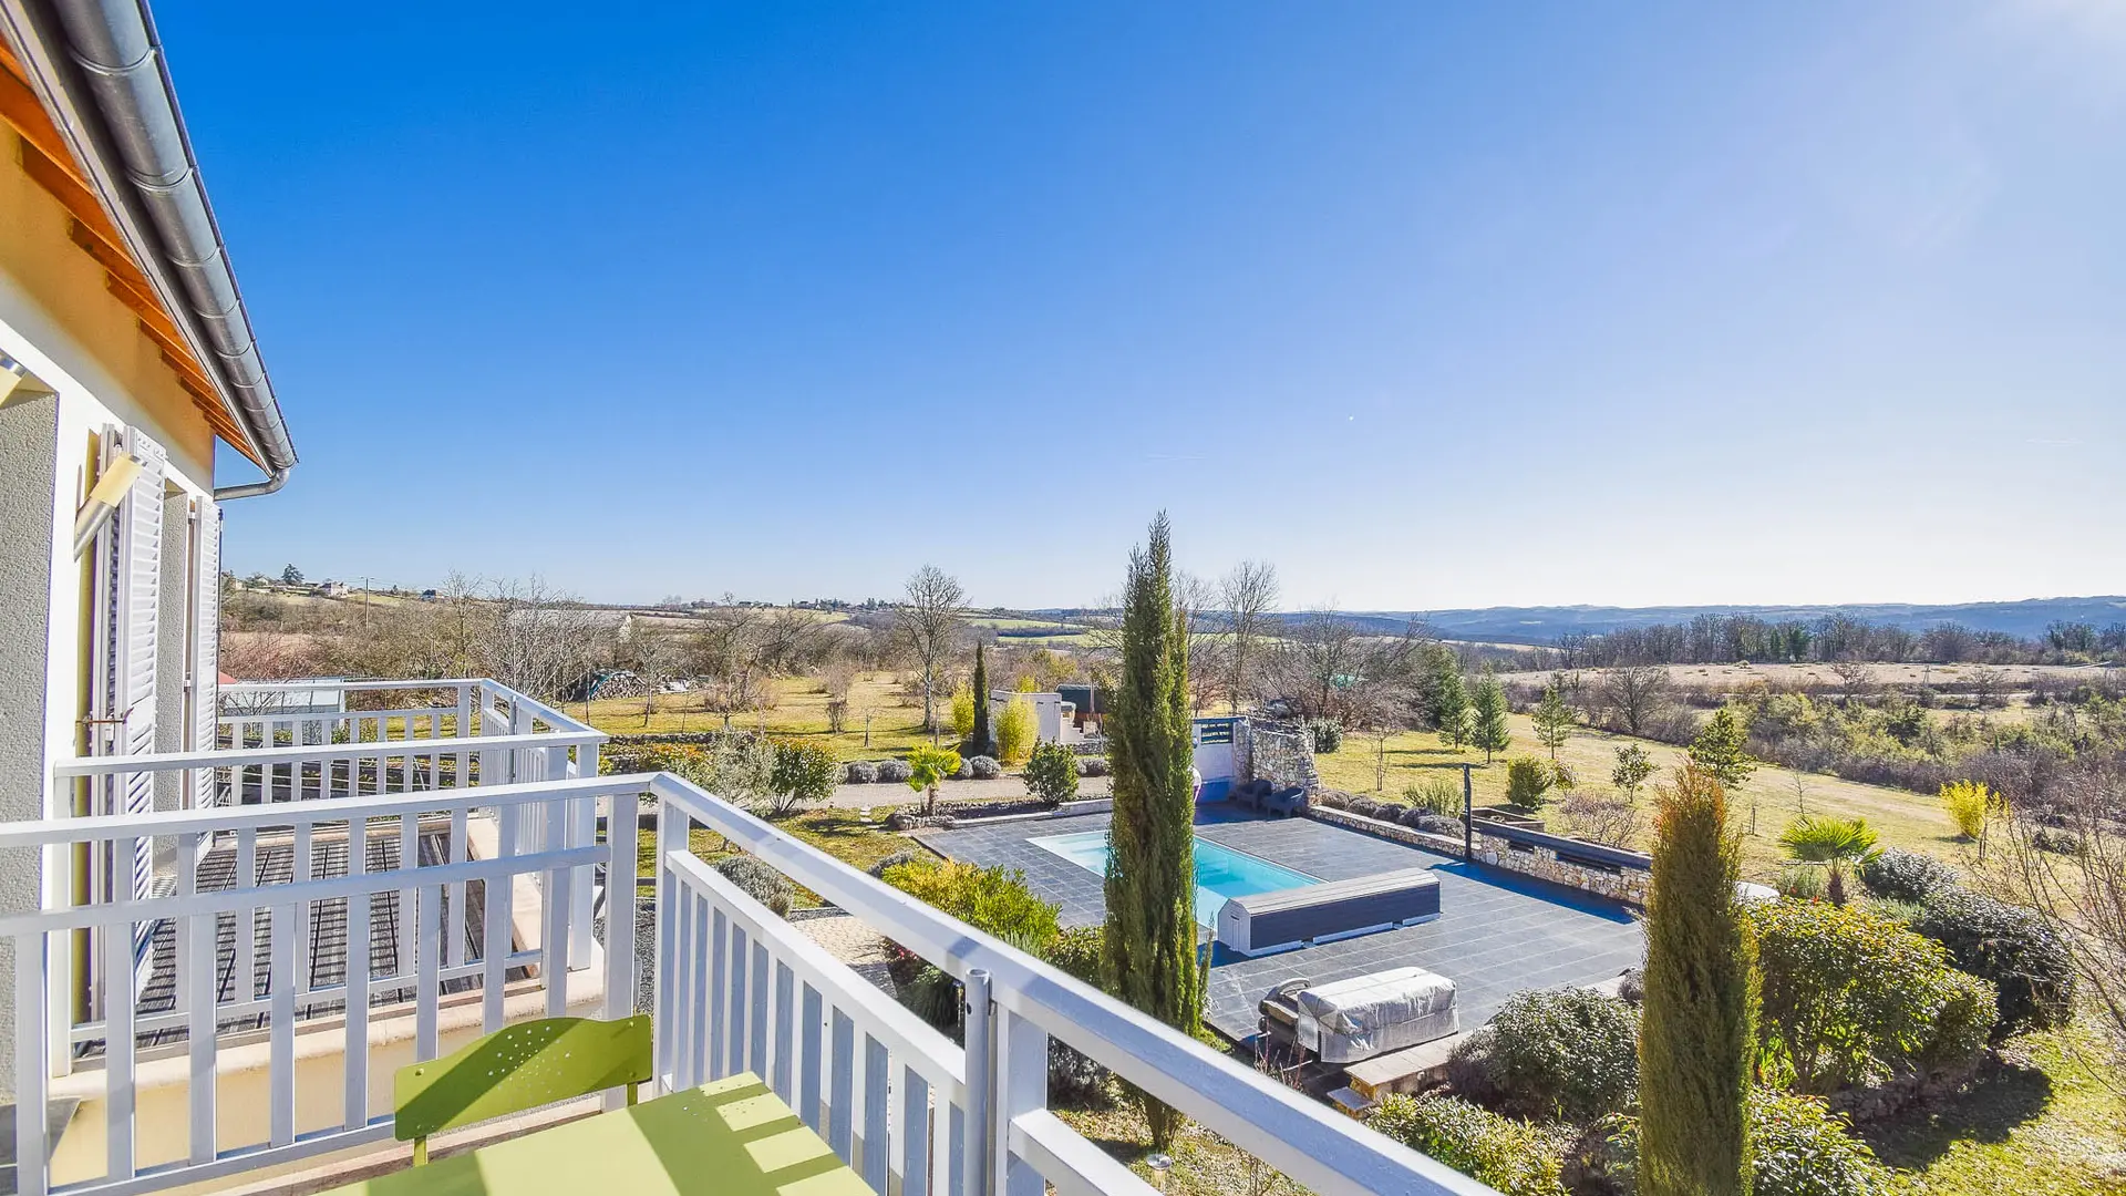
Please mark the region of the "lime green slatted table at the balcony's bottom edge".
<svg viewBox="0 0 2126 1196"><path fill-rule="evenodd" d="M750 1073L440 1158L332 1196L872 1196Z"/></svg>

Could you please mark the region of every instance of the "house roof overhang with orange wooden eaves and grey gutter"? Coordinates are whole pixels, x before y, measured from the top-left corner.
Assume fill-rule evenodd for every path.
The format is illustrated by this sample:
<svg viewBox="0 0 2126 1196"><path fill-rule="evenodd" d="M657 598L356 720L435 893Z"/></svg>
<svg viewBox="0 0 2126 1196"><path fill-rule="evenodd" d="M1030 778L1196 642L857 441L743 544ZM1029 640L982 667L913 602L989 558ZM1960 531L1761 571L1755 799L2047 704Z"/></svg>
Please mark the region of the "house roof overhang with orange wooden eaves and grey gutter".
<svg viewBox="0 0 2126 1196"><path fill-rule="evenodd" d="M140 0L0 0L0 119L215 434L279 485L296 447Z"/></svg>

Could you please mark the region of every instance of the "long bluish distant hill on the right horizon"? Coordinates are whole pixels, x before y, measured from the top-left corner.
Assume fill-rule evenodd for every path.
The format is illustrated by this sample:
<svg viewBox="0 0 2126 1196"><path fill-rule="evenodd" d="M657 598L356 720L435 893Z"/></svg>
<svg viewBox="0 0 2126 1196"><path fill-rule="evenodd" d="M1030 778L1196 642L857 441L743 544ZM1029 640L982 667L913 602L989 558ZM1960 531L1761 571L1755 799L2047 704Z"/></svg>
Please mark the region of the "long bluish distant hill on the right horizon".
<svg viewBox="0 0 2126 1196"><path fill-rule="evenodd" d="M1937 624L1962 624L1981 632L2041 636L2054 619L2105 628L2126 621L2126 598L2024 598L2022 602L1854 602L1839 607L1484 607L1473 611L1352 611L1382 632L1399 632L1412 619L1429 624L1444 638L1484 643L1548 645L1565 632L1603 634L1652 624L1688 624L1694 615L1756 615L1769 621L1852 615L1869 624L1894 624L1913 632ZM1290 615L1297 617L1297 615Z"/></svg>

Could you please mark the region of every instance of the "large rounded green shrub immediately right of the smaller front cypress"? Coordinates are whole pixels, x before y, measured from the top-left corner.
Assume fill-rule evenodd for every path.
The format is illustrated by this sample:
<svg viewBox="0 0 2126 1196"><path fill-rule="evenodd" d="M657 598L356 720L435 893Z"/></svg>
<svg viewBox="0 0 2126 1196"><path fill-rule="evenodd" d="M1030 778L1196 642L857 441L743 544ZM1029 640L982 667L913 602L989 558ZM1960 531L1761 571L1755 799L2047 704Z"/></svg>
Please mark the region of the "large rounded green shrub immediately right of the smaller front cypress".
<svg viewBox="0 0 2126 1196"><path fill-rule="evenodd" d="M1941 943L1865 909L1748 907L1756 924L1767 1062L1803 1092L1947 1068L1986 1047L1992 985L1950 966Z"/></svg>

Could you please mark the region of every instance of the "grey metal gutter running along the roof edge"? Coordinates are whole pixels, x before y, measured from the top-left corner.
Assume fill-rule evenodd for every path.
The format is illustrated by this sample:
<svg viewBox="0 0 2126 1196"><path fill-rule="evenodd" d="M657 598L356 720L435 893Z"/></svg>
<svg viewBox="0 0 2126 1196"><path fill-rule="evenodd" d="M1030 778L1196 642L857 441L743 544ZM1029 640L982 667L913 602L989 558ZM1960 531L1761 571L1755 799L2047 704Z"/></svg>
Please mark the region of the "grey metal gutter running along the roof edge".
<svg viewBox="0 0 2126 1196"><path fill-rule="evenodd" d="M53 9L140 206L155 226L162 255L221 366L238 415L266 458L268 481L232 485L217 492L217 498L279 489L296 464L296 447L259 360L221 230L206 204L147 11L138 0L70 0Z"/></svg>

